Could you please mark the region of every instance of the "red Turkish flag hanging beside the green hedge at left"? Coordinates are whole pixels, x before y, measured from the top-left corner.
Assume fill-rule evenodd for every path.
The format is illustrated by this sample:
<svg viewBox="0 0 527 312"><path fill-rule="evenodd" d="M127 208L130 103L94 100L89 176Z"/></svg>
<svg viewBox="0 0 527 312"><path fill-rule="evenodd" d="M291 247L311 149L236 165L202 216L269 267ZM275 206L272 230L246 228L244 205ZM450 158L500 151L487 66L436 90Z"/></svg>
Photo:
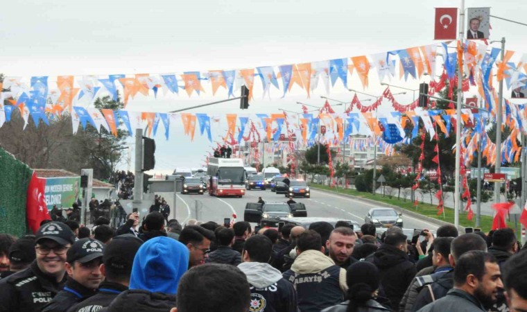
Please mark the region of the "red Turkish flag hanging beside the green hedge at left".
<svg viewBox="0 0 527 312"><path fill-rule="evenodd" d="M42 220L51 220L48 207L46 206L46 200L44 198L45 189L46 179L37 177L37 173L33 172L31 181L29 181L28 196L26 200L28 226L33 233L37 232Z"/></svg>

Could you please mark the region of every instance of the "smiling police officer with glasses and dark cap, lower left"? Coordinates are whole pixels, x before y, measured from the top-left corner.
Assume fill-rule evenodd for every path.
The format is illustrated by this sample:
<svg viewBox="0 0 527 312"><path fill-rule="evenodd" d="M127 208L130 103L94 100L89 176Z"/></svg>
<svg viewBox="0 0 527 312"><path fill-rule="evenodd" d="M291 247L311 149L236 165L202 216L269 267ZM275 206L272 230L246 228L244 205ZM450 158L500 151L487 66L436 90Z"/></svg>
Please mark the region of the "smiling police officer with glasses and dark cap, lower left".
<svg viewBox="0 0 527 312"><path fill-rule="evenodd" d="M40 312L66 282L66 252L74 241L74 232L64 223L42 225L36 233L35 261L0 280L0 311Z"/></svg>

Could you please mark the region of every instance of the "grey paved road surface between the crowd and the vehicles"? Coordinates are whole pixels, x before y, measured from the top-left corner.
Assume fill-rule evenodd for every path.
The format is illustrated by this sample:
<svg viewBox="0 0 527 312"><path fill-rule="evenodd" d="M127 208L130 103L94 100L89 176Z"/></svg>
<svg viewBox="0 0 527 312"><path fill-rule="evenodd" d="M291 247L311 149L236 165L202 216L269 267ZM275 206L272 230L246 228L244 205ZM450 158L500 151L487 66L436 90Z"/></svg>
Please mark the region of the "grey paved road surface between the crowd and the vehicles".
<svg viewBox="0 0 527 312"><path fill-rule="evenodd" d="M168 196L168 194L165 196L163 193L159 193L159 195L164 196L169 205L174 207L171 196ZM182 195L178 193L175 218L182 223L185 223L190 218L196 218L205 222L212 220L222 224L223 218L232 218L232 214L236 214L237 220L243 220L245 204L247 202L257 202L258 196L261 196L266 202L286 201L284 194L276 194L270 190L247 191L243 198L216 198L208 194ZM295 201L303 202L306 205L307 216L343 218L345 220L354 220L361 225L364 223L364 216L368 210L373 207L379 207L361 200L313 189L311 190L311 198L295 198ZM411 216L403 216L403 220L406 228L438 228L437 225Z"/></svg>

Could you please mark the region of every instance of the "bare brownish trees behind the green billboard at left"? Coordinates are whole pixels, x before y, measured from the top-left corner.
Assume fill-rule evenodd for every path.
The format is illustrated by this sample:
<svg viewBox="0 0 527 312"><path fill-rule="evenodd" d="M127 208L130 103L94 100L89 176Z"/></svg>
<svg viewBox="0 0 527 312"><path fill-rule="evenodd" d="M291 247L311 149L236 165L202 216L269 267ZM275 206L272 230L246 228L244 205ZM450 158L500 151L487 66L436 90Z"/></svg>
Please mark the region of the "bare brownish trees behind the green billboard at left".
<svg viewBox="0 0 527 312"><path fill-rule="evenodd" d="M110 96L97 98L94 105L111 110L123 107L123 103L113 101ZM43 121L35 125L30 118L26 129L23 128L24 120L18 110L0 128L0 145L21 162L31 168L63 168L74 173L80 173L81 168L93 168L94 177L101 180L108 179L115 171L124 155L123 142L128 136L123 130L118 130L117 137L105 129L97 132L92 125L73 135L69 114L54 116L49 125Z"/></svg>

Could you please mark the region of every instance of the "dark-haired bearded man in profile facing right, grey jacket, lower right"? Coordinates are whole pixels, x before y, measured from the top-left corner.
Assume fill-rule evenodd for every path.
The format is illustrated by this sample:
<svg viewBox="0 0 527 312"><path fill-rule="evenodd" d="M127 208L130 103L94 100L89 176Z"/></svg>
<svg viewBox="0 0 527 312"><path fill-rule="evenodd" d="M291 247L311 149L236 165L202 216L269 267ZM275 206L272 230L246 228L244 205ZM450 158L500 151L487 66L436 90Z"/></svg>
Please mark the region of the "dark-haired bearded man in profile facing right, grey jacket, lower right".
<svg viewBox="0 0 527 312"><path fill-rule="evenodd" d="M496 302L498 289L503 288L496 257L481 250L467 252L459 258L453 281L453 289L445 297L419 312L487 311Z"/></svg>

